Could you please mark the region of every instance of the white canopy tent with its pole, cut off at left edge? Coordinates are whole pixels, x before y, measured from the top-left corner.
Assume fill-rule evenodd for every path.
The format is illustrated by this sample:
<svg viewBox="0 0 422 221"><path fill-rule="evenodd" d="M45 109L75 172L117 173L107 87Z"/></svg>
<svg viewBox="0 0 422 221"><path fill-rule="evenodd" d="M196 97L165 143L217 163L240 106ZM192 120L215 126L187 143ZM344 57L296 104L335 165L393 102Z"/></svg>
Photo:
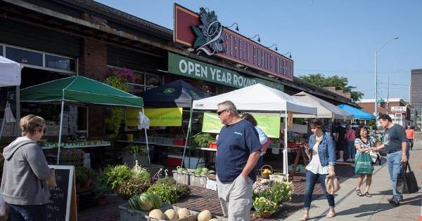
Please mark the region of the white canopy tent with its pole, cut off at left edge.
<svg viewBox="0 0 422 221"><path fill-rule="evenodd" d="M20 101L19 101L19 86L20 86L20 71L23 65L18 62L4 58L0 56L0 87L15 86L16 89L16 119L20 119ZM10 108L9 103L6 102L6 109ZM7 110L5 110L5 116L1 122L0 138L3 133L4 121L6 119ZM18 128L18 126L16 126ZM17 131L17 130L16 130ZM16 135L16 134L15 134Z"/></svg>

